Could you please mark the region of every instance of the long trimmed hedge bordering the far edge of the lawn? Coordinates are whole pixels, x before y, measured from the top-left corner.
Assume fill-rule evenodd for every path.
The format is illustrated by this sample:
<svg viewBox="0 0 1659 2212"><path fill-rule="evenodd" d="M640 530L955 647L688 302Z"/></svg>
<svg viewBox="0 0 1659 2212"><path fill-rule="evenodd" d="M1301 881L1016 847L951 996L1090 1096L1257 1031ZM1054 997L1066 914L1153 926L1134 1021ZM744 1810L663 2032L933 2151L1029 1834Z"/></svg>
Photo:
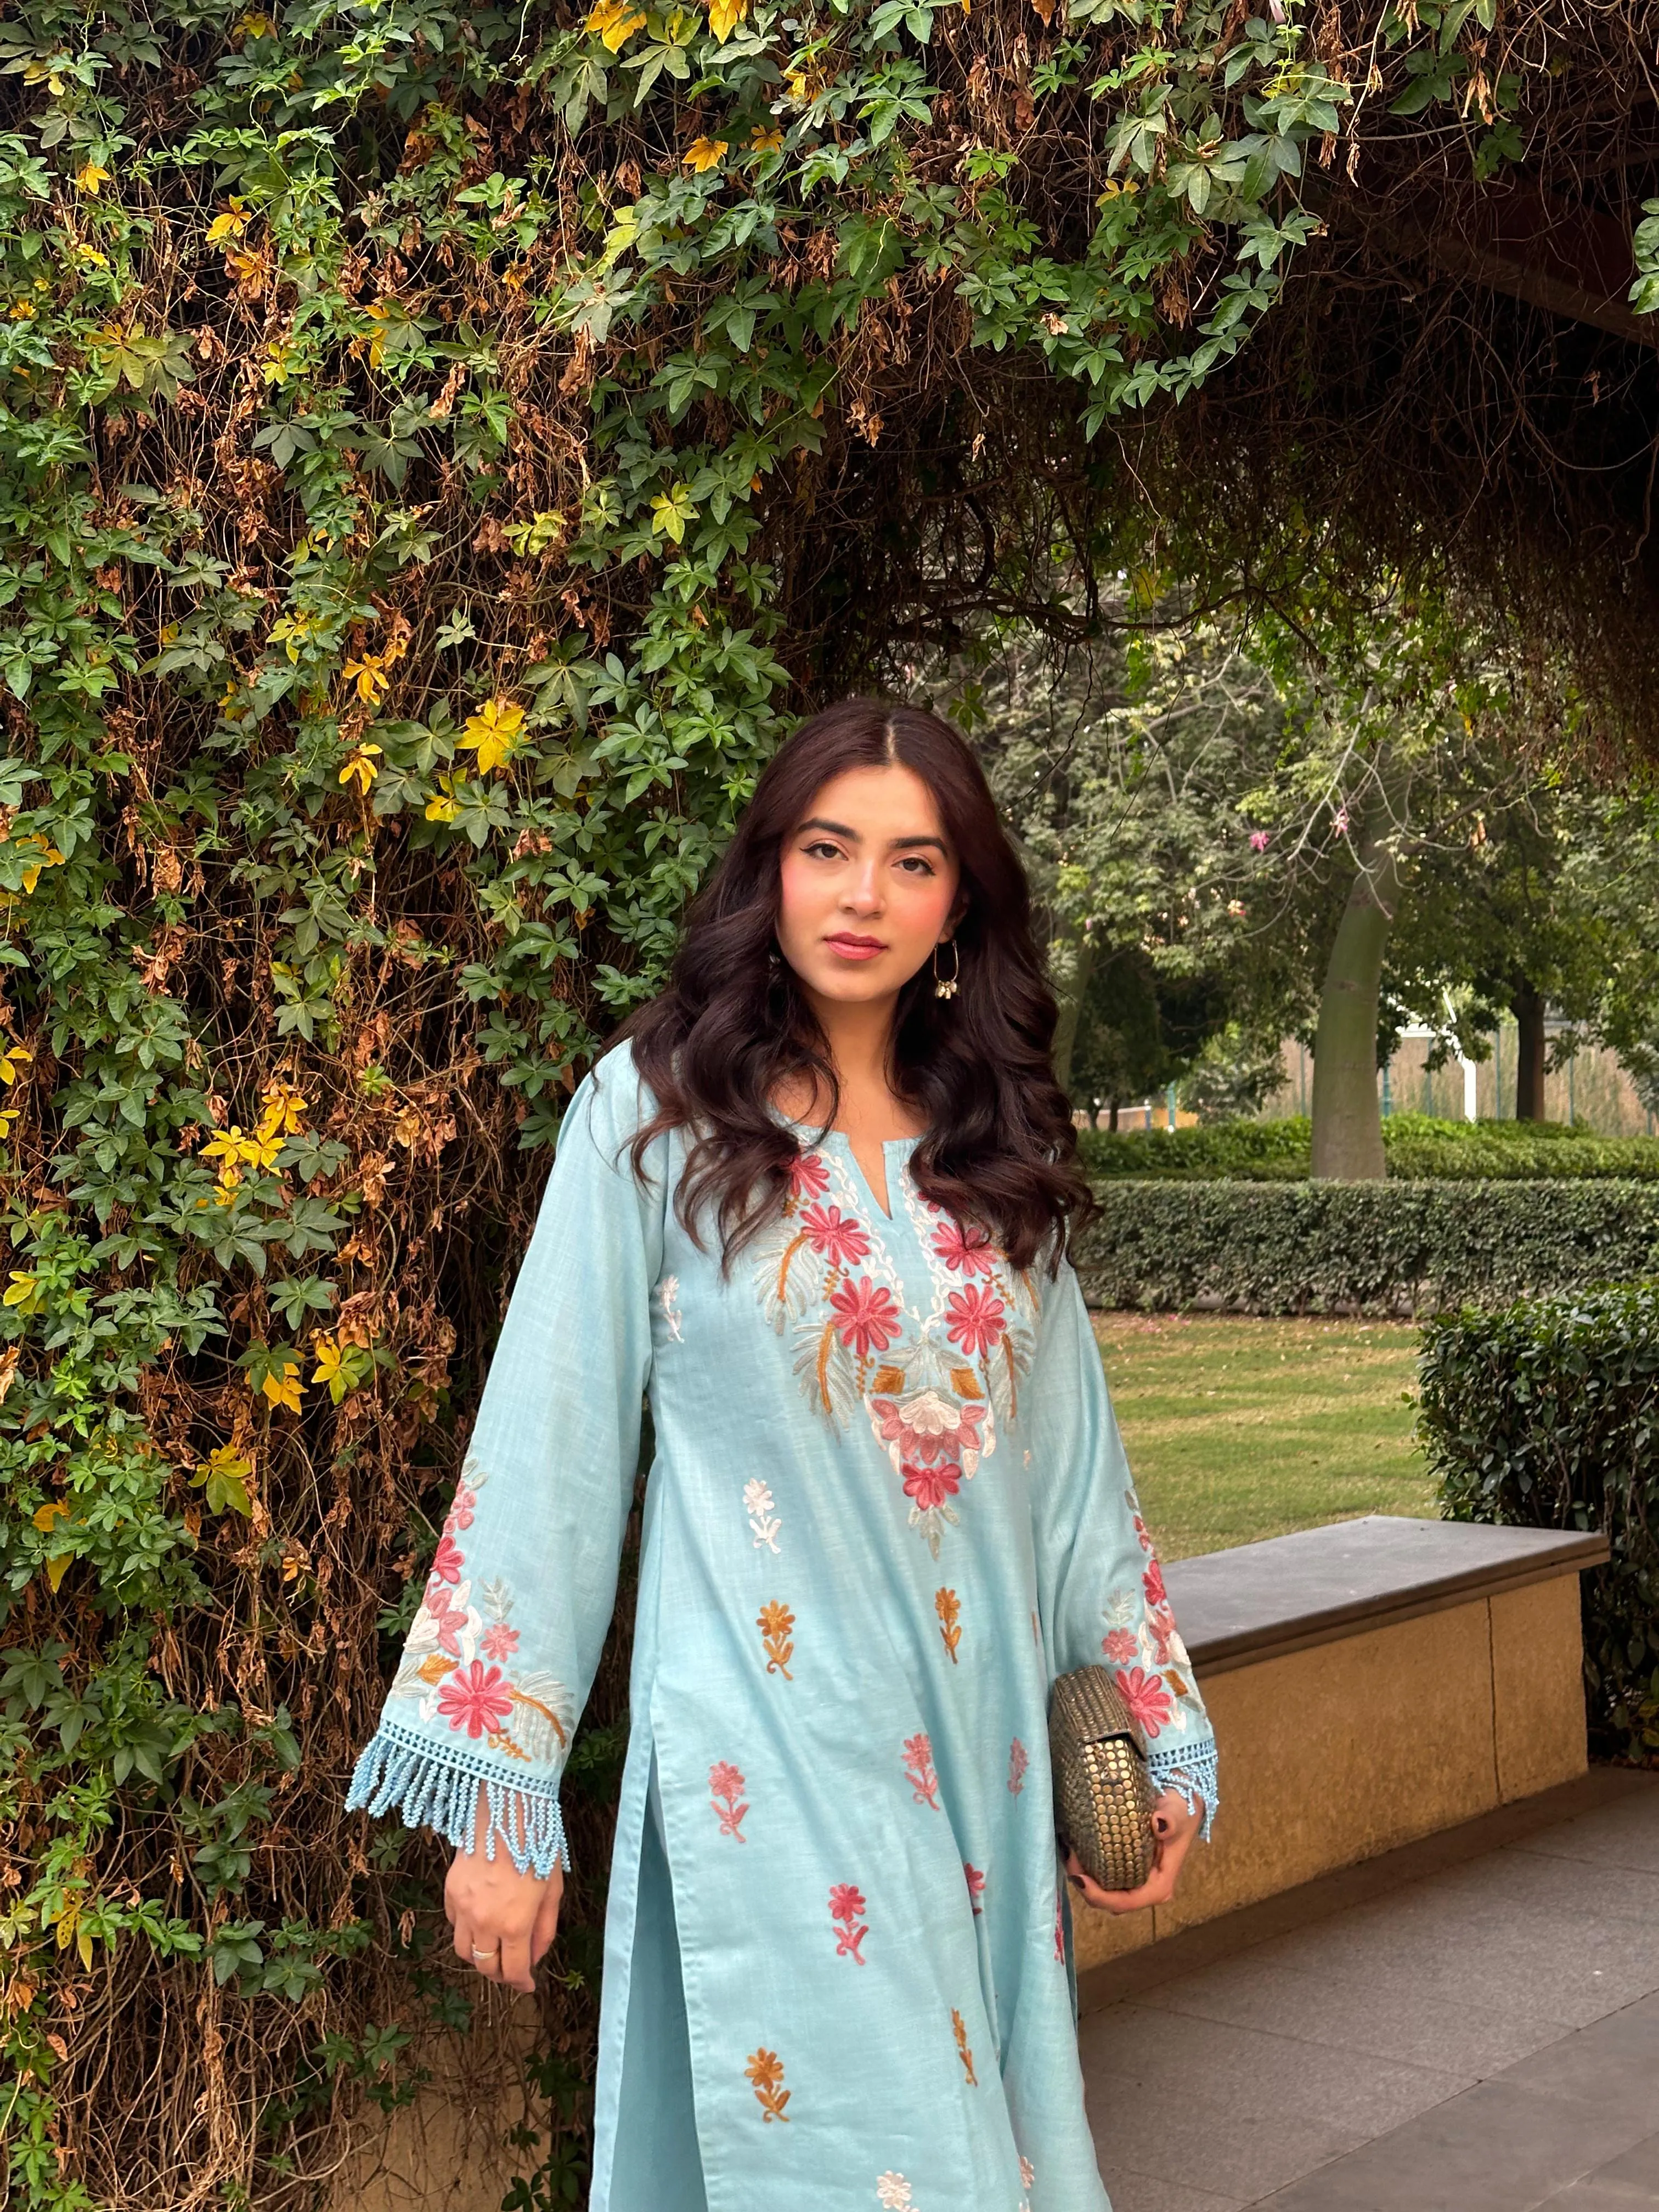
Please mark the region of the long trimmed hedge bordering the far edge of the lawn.
<svg viewBox="0 0 1659 2212"><path fill-rule="evenodd" d="M1427 1314L1659 1272L1659 1186L1106 1181L1091 1305Z"/></svg>

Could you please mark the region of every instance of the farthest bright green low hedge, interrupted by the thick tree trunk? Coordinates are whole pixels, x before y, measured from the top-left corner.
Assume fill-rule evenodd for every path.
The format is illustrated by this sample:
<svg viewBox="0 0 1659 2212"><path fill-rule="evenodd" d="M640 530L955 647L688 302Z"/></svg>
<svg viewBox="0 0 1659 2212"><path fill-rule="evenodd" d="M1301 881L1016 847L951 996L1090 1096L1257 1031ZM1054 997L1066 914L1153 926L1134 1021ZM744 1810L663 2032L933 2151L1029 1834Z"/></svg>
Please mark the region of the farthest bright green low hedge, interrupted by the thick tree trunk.
<svg viewBox="0 0 1659 2212"><path fill-rule="evenodd" d="M1099 1181L1298 1183L1312 1168L1305 1115L1214 1128L1088 1128L1077 1135ZM1436 1121L1389 1115L1383 1152L1398 1181L1659 1181L1659 1137L1593 1137L1559 1121Z"/></svg>

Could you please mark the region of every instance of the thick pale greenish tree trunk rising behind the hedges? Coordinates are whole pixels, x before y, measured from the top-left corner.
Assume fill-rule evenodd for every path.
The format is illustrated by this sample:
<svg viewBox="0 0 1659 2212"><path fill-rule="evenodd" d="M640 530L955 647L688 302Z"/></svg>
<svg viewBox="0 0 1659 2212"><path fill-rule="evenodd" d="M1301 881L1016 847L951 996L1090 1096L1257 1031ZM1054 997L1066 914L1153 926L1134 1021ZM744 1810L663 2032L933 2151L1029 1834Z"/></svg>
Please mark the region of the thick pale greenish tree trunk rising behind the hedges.
<svg viewBox="0 0 1659 2212"><path fill-rule="evenodd" d="M1400 900L1394 847L1365 838L1347 894L1314 1033L1314 1177L1376 1183L1387 1175L1376 1097L1376 995Z"/></svg>

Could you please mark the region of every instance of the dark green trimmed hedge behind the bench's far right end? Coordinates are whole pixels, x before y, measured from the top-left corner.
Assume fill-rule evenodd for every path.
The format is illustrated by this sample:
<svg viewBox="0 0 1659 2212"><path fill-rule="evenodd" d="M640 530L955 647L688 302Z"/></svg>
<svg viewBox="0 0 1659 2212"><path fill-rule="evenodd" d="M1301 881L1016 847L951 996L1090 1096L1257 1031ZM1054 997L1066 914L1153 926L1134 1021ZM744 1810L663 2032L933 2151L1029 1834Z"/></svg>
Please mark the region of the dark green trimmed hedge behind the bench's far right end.
<svg viewBox="0 0 1659 2212"><path fill-rule="evenodd" d="M1460 1312L1422 1343L1429 1464L1451 1520L1599 1528L1584 1674L1599 1752L1659 1754L1659 1285Z"/></svg>

